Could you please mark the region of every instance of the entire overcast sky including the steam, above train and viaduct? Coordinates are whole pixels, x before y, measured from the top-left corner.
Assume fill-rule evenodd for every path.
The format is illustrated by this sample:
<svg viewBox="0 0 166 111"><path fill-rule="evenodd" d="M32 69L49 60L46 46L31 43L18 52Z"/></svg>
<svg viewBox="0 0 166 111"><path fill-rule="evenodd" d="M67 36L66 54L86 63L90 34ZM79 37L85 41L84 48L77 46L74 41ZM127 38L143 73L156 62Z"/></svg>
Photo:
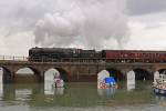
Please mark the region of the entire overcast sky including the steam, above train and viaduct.
<svg viewBox="0 0 166 111"><path fill-rule="evenodd" d="M166 0L0 0L0 54L32 47L166 50Z"/></svg>

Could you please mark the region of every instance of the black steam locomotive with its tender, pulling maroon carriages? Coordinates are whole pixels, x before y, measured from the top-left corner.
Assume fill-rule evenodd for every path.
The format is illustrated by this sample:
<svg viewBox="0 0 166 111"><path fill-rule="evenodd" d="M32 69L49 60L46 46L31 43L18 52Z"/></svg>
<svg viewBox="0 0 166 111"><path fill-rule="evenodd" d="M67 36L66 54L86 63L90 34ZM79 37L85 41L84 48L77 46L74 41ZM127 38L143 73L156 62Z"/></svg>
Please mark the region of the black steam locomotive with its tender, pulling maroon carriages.
<svg viewBox="0 0 166 111"><path fill-rule="evenodd" d="M85 61L101 58L101 52L75 48L32 48L29 50L29 61L66 62Z"/></svg>

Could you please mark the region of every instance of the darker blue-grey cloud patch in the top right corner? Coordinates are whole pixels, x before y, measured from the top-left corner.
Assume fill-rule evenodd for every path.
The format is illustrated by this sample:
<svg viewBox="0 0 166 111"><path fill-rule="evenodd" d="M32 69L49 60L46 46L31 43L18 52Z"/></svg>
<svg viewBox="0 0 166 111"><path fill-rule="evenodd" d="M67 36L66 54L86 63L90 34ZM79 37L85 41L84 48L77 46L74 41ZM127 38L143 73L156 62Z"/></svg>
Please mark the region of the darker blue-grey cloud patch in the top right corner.
<svg viewBox="0 0 166 111"><path fill-rule="evenodd" d="M139 16L166 11L166 0L126 0L126 13Z"/></svg>

